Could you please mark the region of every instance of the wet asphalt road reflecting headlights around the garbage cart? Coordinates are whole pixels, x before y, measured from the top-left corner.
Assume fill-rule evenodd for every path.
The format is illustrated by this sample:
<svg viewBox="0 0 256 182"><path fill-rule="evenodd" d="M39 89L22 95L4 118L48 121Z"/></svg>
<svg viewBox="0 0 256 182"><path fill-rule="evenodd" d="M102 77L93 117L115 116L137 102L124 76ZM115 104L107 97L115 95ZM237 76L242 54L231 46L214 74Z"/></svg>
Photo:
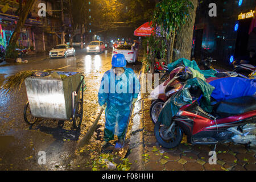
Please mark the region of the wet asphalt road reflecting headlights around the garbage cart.
<svg viewBox="0 0 256 182"><path fill-rule="evenodd" d="M33 126L24 122L23 109L27 102L24 84L17 94L0 93L0 170L77 170L92 169L90 160L101 152L100 144L104 130L102 114L90 145L77 151L77 141L84 137L92 125L100 106L97 93L101 77L111 68L111 51L101 55L86 55L77 51L75 57L67 59L45 59L29 61L28 64L0 67L0 85L3 79L19 71L63 68L60 71L81 72L85 75L87 89L84 93L84 117L81 131L72 130L72 122L44 119ZM135 73L141 64L128 64ZM46 165L39 165L39 151L46 152ZM86 164L88 166L80 165Z"/></svg>

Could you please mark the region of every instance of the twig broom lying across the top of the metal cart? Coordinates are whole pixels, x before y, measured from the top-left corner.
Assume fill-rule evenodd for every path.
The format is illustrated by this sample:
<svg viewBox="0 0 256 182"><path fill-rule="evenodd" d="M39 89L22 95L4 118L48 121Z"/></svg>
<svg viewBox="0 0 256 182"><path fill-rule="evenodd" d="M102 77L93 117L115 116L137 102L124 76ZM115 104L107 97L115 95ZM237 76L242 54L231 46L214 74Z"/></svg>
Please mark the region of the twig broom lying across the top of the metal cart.
<svg viewBox="0 0 256 182"><path fill-rule="evenodd" d="M63 67L63 68L67 68L67 67ZM57 69L63 69L63 68L57 68ZM43 72L54 71L57 69L45 69L43 70ZM35 72L39 72L39 70L36 69L36 70L21 71L19 73L16 73L13 76L9 76L6 78L5 83L1 88L6 94L9 94L11 92L16 93L21 89L22 84L26 80L26 78L32 76L32 74Z"/></svg>

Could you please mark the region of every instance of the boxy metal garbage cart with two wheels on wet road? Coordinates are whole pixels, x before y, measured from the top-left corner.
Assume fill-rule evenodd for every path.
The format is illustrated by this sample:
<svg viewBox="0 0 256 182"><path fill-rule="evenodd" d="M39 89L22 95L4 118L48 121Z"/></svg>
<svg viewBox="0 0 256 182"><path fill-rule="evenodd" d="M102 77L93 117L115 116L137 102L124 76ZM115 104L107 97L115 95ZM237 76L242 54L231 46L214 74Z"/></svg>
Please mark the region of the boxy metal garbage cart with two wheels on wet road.
<svg viewBox="0 0 256 182"><path fill-rule="evenodd" d="M73 128L80 129L84 76L77 72L56 73L63 78L26 78L28 102L24 107L24 120L29 125L34 125L39 118L71 121Z"/></svg>

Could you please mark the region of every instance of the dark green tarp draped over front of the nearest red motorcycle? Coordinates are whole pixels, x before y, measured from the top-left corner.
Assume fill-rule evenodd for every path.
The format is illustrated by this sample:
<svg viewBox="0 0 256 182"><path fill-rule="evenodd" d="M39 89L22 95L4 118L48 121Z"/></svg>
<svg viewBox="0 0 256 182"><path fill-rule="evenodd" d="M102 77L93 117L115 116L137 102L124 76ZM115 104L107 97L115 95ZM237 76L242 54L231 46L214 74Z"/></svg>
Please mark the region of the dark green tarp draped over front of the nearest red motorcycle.
<svg viewBox="0 0 256 182"><path fill-rule="evenodd" d="M183 89L175 93L174 96L168 99L164 104L163 109L160 111L158 122L170 126L172 117L180 110L180 107L192 104L192 96L189 92L189 87L192 85L198 86L203 92L203 97L200 100L200 106L203 110L210 113L212 106L210 105L210 95L212 94L214 87L203 81L201 78L192 78L187 80Z"/></svg>

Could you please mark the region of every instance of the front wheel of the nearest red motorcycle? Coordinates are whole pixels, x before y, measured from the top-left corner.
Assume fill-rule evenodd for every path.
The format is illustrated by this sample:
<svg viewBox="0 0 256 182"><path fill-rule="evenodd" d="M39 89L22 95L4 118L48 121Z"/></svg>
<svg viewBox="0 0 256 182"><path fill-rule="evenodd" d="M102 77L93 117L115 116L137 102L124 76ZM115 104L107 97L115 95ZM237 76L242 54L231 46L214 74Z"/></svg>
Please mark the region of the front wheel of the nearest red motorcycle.
<svg viewBox="0 0 256 182"><path fill-rule="evenodd" d="M167 129L167 126L160 122L156 122L154 127L155 139L165 148L174 148L180 144L183 138L183 132L177 125L174 125L172 131L168 134L166 134Z"/></svg>

